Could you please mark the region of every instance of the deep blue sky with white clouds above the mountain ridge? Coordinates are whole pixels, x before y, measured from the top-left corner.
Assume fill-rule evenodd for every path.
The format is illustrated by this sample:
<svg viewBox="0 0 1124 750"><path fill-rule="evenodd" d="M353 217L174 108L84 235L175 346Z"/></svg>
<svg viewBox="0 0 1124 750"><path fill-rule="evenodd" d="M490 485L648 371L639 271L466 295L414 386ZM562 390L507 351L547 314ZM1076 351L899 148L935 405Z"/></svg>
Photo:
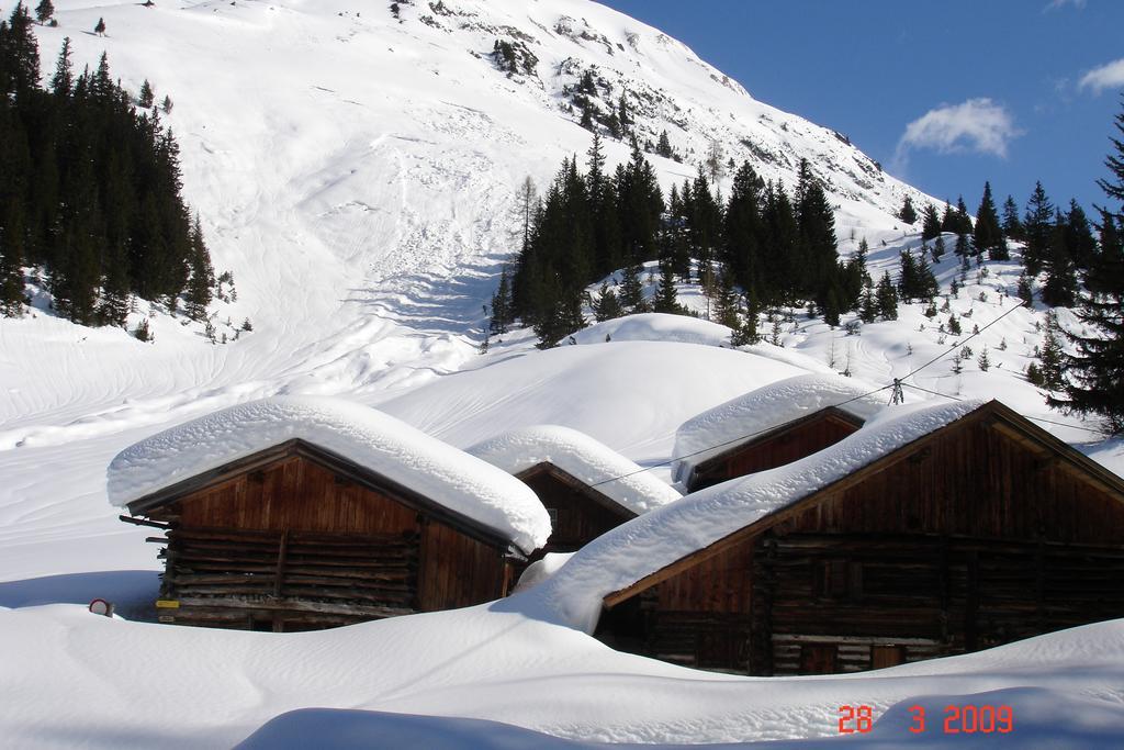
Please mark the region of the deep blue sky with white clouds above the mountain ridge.
<svg viewBox="0 0 1124 750"><path fill-rule="evenodd" d="M1124 1L601 2L971 211L985 180L1021 208L1035 180L1055 204L1104 202Z"/></svg>

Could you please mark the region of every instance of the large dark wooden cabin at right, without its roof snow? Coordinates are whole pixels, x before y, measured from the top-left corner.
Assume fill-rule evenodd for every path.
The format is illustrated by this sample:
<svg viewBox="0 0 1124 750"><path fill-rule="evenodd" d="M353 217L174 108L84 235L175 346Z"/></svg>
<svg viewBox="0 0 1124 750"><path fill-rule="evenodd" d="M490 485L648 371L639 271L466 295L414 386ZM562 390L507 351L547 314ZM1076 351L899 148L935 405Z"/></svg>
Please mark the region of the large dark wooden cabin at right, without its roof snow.
<svg viewBox="0 0 1124 750"><path fill-rule="evenodd" d="M608 594L598 635L807 675L1124 617L1124 480L998 401L796 495Z"/></svg>

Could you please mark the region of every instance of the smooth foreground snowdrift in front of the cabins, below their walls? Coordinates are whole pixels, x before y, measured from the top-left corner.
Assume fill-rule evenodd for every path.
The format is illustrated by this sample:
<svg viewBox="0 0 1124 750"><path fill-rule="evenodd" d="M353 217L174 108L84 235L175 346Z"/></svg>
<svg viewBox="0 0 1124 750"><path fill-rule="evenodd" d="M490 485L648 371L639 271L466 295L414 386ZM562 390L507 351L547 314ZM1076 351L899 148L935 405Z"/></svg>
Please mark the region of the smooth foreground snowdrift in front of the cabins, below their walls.
<svg viewBox="0 0 1124 750"><path fill-rule="evenodd" d="M552 622L534 590L311 633L170 627L73 605L0 612L0 725L15 748L230 747L302 708L483 719L586 742L799 738L794 747L806 747L803 739L837 735L842 705L873 710L874 747L1108 748L1124 726L1120 622L870 675L788 679L617 653ZM907 708L918 703L921 737L908 730ZM976 742L945 734L950 704L1009 705L1014 730ZM401 747L379 738L410 725L317 711L283 717L251 747L277 747L268 739L278 737L293 748ZM534 735L488 725L413 726L405 737L425 738L417 747L535 747L501 744Z"/></svg>

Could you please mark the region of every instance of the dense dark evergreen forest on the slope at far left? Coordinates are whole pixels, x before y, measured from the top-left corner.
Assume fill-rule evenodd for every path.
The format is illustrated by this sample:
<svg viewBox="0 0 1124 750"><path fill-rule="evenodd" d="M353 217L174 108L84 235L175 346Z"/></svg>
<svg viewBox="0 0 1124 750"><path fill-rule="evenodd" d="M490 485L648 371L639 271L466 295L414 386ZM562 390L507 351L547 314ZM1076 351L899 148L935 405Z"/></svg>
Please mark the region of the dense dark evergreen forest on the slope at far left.
<svg viewBox="0 0 1124 750"><path fill-rule="evenodd" d="M0 22L0 313L22 313L30 268L75 323L121 326L134 297L206 318L214 271L171 128L105 54L75 74L69 38L40 81L33 22L22 3Z"/></svg>

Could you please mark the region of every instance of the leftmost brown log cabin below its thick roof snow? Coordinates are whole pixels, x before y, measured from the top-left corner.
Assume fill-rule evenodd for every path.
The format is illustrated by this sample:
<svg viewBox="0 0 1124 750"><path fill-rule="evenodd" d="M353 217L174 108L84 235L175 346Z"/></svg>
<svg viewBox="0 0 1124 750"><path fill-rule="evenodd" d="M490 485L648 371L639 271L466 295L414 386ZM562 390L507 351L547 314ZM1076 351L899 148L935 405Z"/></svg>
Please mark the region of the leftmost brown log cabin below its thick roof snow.
<svg viewBox="0 0 1124 750"><path fill-rule="evenodd" d="M506 596L524 559L496 530L299 439L128 510L164 532L148 541L164 545L166 623L288 632L462 607Z"/></svg>

